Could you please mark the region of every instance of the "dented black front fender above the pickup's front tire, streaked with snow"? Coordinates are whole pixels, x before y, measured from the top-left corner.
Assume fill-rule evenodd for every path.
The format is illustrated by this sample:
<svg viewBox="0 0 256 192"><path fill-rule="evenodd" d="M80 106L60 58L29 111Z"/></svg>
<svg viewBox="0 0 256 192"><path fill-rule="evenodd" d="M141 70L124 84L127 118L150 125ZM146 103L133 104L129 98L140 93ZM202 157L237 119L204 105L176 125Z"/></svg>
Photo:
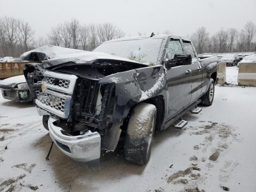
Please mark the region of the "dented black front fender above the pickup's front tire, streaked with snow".
<svg viewBox="0 0 256 192"><path fill-rule="evenodd" d="M112 120L120 122L134 104L161 94L166 75L162 66L149 66L106 76L99 83L116 84Z"/></svg>

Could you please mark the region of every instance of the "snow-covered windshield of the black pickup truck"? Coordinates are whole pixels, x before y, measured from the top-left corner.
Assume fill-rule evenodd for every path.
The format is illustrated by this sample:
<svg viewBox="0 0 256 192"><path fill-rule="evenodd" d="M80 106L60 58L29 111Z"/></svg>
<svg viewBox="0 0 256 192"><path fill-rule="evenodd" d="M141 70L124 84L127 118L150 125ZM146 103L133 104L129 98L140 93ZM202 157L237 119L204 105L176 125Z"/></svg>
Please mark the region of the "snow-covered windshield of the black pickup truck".
<svg viewBox="0 0 256 192"><path fill-rule="evenodd" d="M156 65L162 40L162 38L148 38L105 42L96 47L93 52L104 52L140 63Z"/></svg>

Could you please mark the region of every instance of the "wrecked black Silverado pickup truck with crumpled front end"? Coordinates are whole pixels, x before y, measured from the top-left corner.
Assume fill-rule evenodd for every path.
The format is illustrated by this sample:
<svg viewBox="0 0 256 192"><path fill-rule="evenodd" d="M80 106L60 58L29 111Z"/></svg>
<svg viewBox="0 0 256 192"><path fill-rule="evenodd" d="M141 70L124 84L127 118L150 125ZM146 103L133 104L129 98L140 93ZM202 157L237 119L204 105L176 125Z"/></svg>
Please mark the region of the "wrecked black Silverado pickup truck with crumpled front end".
<svg viewBox="0 0 256 192"><path fill-rule="evenodd" d="M70 158L98 160L124 142L126 160L145 164L155 128L210 106L217 58L199 60L188 38L154 35L110 40L92 52L43 46L22 54L24 75L44 127Z"/></svg>

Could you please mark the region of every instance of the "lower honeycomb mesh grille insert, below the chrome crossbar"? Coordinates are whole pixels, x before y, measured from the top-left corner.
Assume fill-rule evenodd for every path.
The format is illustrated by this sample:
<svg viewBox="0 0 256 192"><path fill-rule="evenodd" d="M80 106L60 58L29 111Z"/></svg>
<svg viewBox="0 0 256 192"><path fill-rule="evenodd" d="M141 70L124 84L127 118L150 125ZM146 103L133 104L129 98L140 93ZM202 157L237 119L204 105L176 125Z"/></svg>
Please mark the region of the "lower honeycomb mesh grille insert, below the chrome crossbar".
<svg viewBox="0 0 256 192"><path fill-rule="evenodd" d="M55 108L56 110L60 110L64 112L66 99L60 98L57 96L53 96L52 94L48 94L45 92L38 92L37 93L37 99L42 104L45 104L46 106L50 106L52 108Z"/></svg>

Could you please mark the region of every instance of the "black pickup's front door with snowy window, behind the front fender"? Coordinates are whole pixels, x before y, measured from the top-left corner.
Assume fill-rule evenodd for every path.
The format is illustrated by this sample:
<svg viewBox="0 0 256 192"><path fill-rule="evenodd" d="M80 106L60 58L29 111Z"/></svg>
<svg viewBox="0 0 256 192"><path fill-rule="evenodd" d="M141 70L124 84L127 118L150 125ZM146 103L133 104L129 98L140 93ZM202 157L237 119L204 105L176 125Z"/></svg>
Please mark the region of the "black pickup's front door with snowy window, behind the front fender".
<svg viewBox="0 0 256 192"><path fill-rule="evenodd" d="M171 38L166 46L166 59L172 60L175 54L184 54L181 40ZM191 100L191 65L173 66L167 69L169 94L168 118L186 108Z"/></svg>

